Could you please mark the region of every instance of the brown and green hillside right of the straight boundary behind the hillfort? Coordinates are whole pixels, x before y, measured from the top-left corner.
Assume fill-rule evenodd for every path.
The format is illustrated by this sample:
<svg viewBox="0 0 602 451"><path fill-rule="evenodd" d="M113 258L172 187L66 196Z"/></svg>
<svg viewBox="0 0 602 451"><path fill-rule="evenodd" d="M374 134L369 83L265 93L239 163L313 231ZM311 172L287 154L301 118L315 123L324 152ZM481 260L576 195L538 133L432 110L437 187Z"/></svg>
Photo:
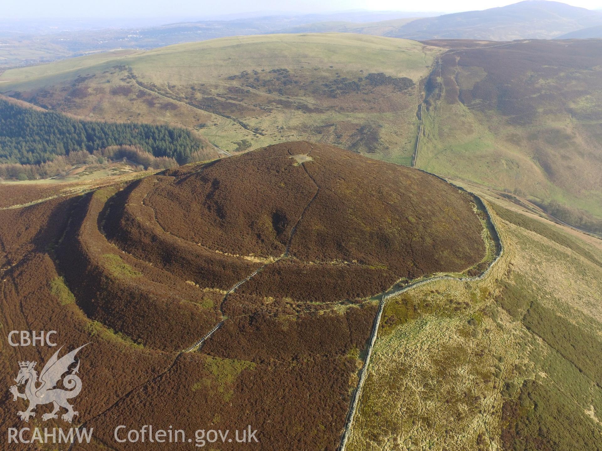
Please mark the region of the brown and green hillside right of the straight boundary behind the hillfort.
<svg viewBox="0 0 602 451"><path fill-rule="evenodd" d="M428 41L417 167L514 192L602 230L601 40Z"/></svg>

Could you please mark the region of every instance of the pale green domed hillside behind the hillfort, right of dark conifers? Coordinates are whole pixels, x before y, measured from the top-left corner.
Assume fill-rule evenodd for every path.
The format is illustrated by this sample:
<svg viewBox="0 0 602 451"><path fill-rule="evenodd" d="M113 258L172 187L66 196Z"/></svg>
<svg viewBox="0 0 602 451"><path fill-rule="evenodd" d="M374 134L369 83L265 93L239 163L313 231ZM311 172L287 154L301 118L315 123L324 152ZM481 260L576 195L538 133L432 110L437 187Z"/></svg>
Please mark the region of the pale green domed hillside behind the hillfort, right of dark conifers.
<svg viewBox="0 0 602 451"><path fill-rule="evenodd" d="M441 52L356 34L234 37L7 70L0 90L83 117L187 126L231 152L312 139L409 164L420 81Z"/></svg>

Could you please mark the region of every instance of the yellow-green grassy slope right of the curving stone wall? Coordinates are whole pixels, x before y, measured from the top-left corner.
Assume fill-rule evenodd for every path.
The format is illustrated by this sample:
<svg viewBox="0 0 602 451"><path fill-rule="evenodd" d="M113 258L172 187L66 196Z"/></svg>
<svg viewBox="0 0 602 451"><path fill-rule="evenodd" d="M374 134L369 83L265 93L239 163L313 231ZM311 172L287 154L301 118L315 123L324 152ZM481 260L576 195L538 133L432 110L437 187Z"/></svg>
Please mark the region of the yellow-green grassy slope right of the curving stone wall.
<svg viewBox="0 0 602 451"><path fill-rule="evenodd" d="M346 451L602 449L602 243L470 187L503 256L388 299Z"/></svg>

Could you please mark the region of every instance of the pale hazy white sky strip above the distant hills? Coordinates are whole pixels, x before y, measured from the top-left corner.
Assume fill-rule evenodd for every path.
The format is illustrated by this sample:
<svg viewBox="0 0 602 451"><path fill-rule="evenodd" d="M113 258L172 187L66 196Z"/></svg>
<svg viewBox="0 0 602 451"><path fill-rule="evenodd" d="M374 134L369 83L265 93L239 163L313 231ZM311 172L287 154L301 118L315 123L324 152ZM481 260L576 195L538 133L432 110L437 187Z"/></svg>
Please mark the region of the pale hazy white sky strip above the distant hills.
<svg viewBox="0 0 602 451"><path fill-rule="evenodd" d="M508 5L515 1L457 0L0 0L0 19L82 18L103 19L190 18L252 11L324 13L352 9L389 11L468 11ZM602 8L602 0L568 0L570 5Z"/></svg>

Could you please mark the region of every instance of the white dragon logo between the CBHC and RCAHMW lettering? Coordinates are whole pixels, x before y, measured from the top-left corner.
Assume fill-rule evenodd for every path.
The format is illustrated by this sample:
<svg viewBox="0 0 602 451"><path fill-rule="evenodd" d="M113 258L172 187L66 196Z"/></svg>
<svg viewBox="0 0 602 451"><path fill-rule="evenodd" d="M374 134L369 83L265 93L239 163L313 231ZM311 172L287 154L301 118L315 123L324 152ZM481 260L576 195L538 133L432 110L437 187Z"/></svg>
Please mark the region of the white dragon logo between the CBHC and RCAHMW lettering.
<svg viewBox="0 0 602 451"><path fill-rule="evenodd" d="M86 345L89 344L90 343L86 343ZM19 393L17 385L10 387L10 392L13 394L13 401L16 401L19 397L29 400L29 407L27 410L25 412L17 413L21 420L29 423L29 417L36 416L36 413L33 410L37 405L48 404L51 402L54 406L54 410L52 410L52 413L42 415L42 420L44 421L51 418L57 419L57 412L61 407L67 409L67 412L61 416L66 422L71 423L73 421L73 416L79 415L78 412L73 411L73 406L67 402L68 399L76 397L79 394L79 391L81 391L81 379L79 379L79 376L76 376L76 373L79 370L79 359L77 366L63 378L63 386L67 388L67 390L54 387L57 386L57 382L61 379L61 376L69 371L69 366L75 362L75 354L77 354L79 349L84 346L79 346L79 348L74 349L69 352L69 354L58 358L58 353L63 349L63 346L61 346L42 369L40 381L38 381L37 372L34 370L37 362L19 362L19 375L17 375L17 378L14 379L14 381L17 382L17 385L25 384L26 382L25 392ZM42 382L39 387L37 387L38 382Z"/></svg>

